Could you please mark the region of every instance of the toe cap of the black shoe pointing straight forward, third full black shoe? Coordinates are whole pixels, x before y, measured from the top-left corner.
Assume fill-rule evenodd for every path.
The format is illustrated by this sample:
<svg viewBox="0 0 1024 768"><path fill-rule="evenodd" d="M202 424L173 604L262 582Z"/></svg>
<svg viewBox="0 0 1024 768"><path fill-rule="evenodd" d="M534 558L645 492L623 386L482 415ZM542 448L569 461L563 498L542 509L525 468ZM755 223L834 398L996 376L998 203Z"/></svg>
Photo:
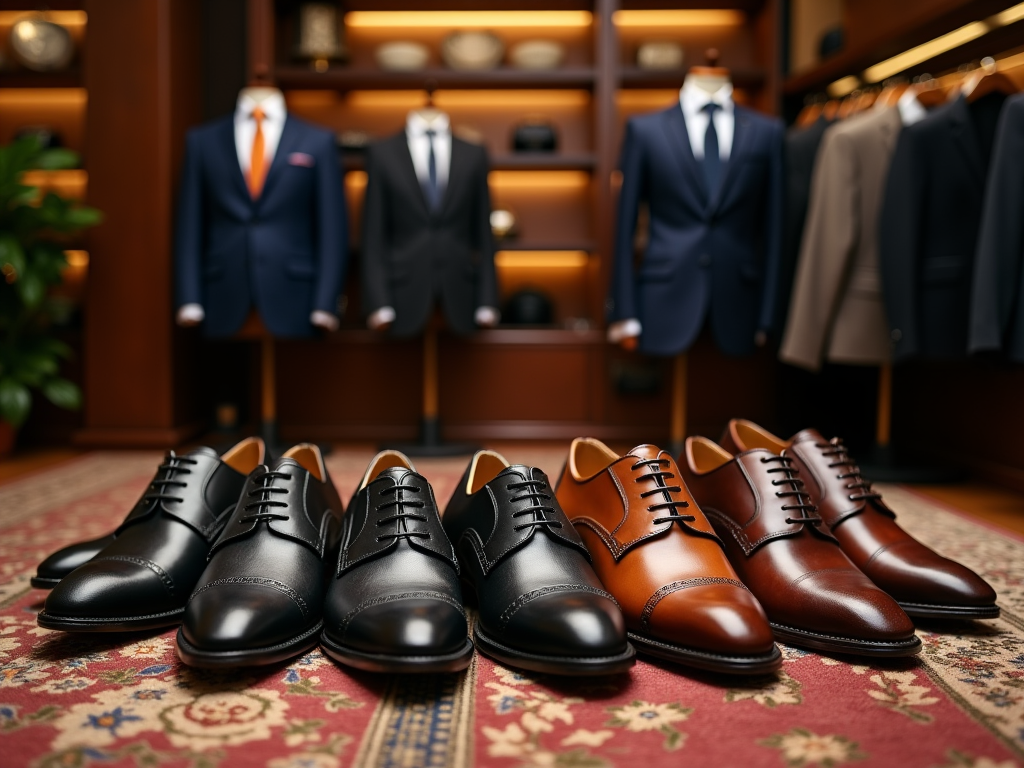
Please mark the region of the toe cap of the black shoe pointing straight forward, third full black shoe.
<svg viewBox="0 0 1024 768"><path fill-rule="evenodd" d="M328 635L366 653L402 656L455 653L466 645L463 611L429 597L388 600L359 609L347 621L327 624Z"/></svg>

